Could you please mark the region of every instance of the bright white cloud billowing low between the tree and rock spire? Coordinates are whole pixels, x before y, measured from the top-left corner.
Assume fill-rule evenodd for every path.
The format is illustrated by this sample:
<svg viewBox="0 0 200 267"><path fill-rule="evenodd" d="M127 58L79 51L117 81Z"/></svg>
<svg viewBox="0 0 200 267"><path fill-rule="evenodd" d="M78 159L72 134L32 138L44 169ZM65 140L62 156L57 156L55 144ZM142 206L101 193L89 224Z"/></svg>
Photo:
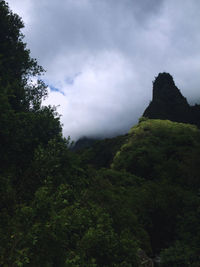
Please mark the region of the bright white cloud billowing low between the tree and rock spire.
<svg viewBox="0 0 200 267"><path fill-rule="evenodd" d="M64 134L112 135L128 130L136 122L125 114L143 110L144 101L130 62L118 53L105 52L87 61L73 84L60 84L64 96L50 92L46 103L61 104ZM131 105L137 102L136 105ZM81 132L80 132L81 129ZM123 129L123 130L122 130Z"/></svg>

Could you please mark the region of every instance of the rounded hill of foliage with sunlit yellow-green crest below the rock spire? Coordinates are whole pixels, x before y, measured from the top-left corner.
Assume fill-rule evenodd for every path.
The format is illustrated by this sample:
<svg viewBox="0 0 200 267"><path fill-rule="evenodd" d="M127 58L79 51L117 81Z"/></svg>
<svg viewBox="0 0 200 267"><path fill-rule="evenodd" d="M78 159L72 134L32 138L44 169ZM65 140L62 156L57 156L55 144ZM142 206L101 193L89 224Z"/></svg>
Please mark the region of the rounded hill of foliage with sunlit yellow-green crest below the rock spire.
<svg viewBox="0 0 200 267"><path fill-rule="evenodd" d="M117 152L112 168L146 179L169 179L198 188L199 137L199 130L190 124L142 121L130 130L128 142Z"/></svg>

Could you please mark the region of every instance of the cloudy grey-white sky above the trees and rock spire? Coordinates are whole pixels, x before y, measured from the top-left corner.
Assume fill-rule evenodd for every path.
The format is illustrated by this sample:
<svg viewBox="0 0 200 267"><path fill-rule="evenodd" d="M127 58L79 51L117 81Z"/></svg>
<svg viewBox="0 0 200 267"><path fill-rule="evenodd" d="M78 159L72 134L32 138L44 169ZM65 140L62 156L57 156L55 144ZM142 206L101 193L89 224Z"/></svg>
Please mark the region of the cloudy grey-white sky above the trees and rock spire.
<svg viewBox="0 0 200 267"><path fill-rule="evenodd" d="M200 103L199 0L8 0L24 41L46 70L64 136L128 132L169 72Z"/></svg>

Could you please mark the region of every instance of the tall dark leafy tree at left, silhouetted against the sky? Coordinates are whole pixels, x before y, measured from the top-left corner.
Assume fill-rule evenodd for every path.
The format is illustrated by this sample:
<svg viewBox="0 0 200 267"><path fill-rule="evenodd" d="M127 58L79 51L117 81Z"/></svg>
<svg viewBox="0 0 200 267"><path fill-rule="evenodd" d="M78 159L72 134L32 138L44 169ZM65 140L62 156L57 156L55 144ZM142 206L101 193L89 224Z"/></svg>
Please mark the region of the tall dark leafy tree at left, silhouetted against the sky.
<svg viewBox="0 0 200 267"><path fill-rule="evenodd" d="M23 27L21 18L0 1L0 167L20 175L35 149L59 138L62 130L55 109L41 106L47 96L38 78L43 68L30 57Z"/></svg>

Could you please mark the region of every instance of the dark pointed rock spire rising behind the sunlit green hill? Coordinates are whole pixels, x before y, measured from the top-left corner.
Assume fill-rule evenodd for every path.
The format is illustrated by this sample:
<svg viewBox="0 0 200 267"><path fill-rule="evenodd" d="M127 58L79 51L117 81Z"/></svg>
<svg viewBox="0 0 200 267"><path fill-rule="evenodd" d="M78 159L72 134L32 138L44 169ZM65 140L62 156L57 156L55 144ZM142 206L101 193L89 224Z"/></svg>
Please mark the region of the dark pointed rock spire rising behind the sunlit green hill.
<svg viewBox="0 0 200 267"><path fill-rule="evenodd" d="M190 106L169 73L159 73L153 82L153 99L144 111L150 119L168 119L200 127L200 106Z"/></svg>

